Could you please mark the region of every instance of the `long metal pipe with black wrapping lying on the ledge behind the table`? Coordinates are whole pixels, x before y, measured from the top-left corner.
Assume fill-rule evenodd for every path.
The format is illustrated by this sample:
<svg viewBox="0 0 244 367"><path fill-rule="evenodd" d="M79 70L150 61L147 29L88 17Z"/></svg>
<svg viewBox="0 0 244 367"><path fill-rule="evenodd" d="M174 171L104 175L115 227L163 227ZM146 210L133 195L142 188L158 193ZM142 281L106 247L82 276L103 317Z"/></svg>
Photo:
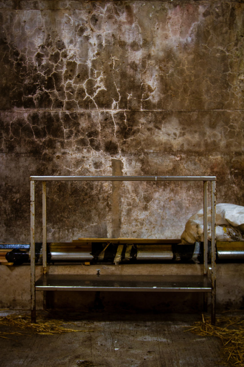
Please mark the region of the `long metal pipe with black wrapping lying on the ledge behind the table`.
<svg viewBox="0 0 244 367"><path fill-rule="evenodd" d="M167 242L167 244L157 244L157 239L155 243L152 239L148 240L148 243L144 244L133 244L133 239L130 239L131 243L123 244L125 247L125 258L124 260L129 261L131 259L131 250L134 247L136 250L134 252L135 259L138 261L145 260L156 260L156 261L195 261L203 263L203 243L195 242L192 245L179 245L180 240L175 241L173 245ZM99 243L98 243L99 244ZM101 243L100 243L101 244ZM65 245L65 246L64 246ZM72 246L73 243L50 243L49 251L47 250L47 261L97 261L94 258L94 251L92 254L92 246L90 248L84 248L84 244L80 248L75 248ZM116 246L116 243L114 244ZM42 246L42 243L41 243ZM47 244L48 247L48 244ZM202 248L202 249L201 249ZM18 262L18 265L26 263L30 260L29 244L0 244L0 249L6 251L5 258L8 262ZM38 251L39 250L39 251ZM35 252L37 258L40 257L40 243L35 244ZM24 256L27 255L27 258ZM104 254L103 254L104 255ZM217 262L222 261L241 261L244 260L244 241L216 241L216 255L218 255ZM210 251L211 256L211 251ZM48 259L49 258L49 259ZM13 260L14 259L14 260ZM99 256L99 260L103 260Z"/></svg>

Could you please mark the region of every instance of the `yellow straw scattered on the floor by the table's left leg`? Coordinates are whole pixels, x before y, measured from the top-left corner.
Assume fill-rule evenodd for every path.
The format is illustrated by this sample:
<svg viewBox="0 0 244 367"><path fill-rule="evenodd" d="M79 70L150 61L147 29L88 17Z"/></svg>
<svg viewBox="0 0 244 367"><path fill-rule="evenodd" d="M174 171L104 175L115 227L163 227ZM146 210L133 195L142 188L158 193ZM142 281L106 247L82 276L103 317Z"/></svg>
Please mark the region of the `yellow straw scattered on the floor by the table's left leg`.
<svg viewBox="0 0 244 367"><path fill-rule="evenodd" d="M29 315L8 315L0 316L0 325L8 326L11 329L10 332L0 331L0 338L15 340L5 337L4 335L25 335L29 334L41 334L41 335L54 335L65 333L80 333L89 332L90 330L76 330L73 328L65 328L63 324L73 324L71 321L56 320L56 319L44 319L44 317L38 316L36 324L31 323ZM16 331L16 329L21 329ZM15 340L16 341L16 340Z"/></svg>

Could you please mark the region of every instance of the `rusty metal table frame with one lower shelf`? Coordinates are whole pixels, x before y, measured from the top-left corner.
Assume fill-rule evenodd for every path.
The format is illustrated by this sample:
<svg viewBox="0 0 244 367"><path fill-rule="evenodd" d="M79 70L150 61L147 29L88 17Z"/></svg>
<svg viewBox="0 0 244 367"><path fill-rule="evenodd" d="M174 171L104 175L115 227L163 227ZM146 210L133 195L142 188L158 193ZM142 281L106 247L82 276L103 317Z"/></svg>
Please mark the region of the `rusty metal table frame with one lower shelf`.
<svg viewBox="0 0 244 367"><path fill-rule="evenodd" d="M35 181L42 181L42 268L35 277ZM204 261L203 275L48 275L47 274L47 181L203 181ZM215 324L215 176L31 176L30 177L30 291L31 318L36 322L36 291L148 291L211 293L211 323ZM207 264L207 187L211 182L211 274ZM206 298L205 298L206 302Z"/></svg>

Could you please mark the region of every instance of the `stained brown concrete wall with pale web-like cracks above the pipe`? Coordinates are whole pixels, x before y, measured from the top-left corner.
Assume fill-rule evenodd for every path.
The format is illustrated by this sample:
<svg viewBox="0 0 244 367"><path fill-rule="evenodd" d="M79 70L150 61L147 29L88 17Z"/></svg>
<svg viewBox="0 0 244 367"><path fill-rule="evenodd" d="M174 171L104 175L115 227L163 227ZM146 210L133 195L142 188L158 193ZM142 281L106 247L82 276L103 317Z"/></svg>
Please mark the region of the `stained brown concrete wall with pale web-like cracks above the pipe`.
<svg viewBox="0 0 244 367"><path fill-rule="evenodd" d="M1 242L30 241L30 175L112 175L113 160L216 175L217 202L244 205L242 2L8 0L0 32ZM48 241L179 238L203 201L202 183L47 190Z"/></svg>

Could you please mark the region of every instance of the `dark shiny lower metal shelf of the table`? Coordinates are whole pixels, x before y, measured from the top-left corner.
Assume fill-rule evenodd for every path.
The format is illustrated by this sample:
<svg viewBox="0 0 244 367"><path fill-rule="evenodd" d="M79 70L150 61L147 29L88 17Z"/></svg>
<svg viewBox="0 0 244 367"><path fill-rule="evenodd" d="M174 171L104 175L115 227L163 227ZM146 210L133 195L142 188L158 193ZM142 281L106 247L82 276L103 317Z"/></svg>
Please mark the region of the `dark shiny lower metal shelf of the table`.
<svg viewBox="0 0 244 367"><path fill-rule="evenodd" d="M211 292L201 275L47 275L36 281L37 291Z"/></svg>

